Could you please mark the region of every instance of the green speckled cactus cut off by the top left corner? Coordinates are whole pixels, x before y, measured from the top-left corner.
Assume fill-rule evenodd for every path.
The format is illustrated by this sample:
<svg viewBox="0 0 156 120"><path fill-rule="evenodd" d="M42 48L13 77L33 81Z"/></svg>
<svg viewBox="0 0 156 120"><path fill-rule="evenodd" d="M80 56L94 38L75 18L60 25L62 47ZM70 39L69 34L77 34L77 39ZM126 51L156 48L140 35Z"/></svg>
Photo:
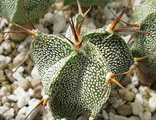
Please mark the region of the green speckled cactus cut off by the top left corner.
<svg viewBox="0 0 156 120"><path fill-rule="evenodd" d="M37 23L54 2L55 0L1 0L0 14L14 23L26 24L28 19L23 3L31 21Z"/></svg>

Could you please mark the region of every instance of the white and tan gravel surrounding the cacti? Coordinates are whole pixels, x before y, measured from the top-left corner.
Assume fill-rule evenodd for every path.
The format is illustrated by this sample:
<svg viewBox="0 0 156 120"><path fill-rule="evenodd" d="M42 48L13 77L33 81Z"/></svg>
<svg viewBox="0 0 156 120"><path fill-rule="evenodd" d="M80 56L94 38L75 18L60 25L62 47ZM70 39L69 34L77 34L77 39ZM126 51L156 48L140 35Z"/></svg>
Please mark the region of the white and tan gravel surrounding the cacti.
<svg viewBox="0 0 156 120"><path fill-rule="evenodd" d="M137 6L140 2L140 0L133 0L131 4ZM114 9L113 4L108 4L104 9L93 7L85 19L85 23L92 29L108 25L115 19L111 11L119 15L126 4L127 2L118 0L116 2L117 10ZM57 2L58 7L61 8L61 5L61 1ZM71 8L67 6L59 12L56 9L51 7L40 19L40 24L35 25L35 27L44 33L55 35L59 35L60 32L64 33L68 26L67 18L69 18ZM132 13L130 7L122 20L130 23ZM1 31L8 31L8 24L6 19L0 17ZM123 23L117 25L117 27L121 26ZM131 36L129 33L121 33L121 35L126 42ZM17 36L13 35L13 37ZM6 120L23 120L44 95L40 76L34 62L28 58L24 64L20 65L29 51L32 40L31 36L27 36L24 40L22 37L21 40L18 36L18 41L12 41L12 36L8 35L0 45L0 114L5 116ZM3 34L0 33L0 39L2 38ZM16 70L19 65L20 67ZM16 72L12 74L15 70ZM122 84L134 96L121 88L112 90L110 98L97 120L154 120L156 91L141 85L135 72L127 75ZM78 120L86 120L87 118L88 116L82 115ZM29 116L29 120L31 119L53 120L54 118L47 106L44 110L40 106Z"/></svg>

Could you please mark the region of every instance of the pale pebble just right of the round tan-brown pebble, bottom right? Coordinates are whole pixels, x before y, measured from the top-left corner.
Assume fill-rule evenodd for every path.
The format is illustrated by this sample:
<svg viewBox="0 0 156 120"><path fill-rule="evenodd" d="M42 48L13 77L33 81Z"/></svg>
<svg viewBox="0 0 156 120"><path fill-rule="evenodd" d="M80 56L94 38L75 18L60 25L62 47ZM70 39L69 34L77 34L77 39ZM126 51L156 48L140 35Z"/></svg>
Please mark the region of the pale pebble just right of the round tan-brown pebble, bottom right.
<svg viewBox="0 0 156 120"><path fill-rule="evenodd" d="M140 113L143 112L143 107L140 103L131 103L131 107L132 107L132 112L134 115L139 115Z"/></svg>

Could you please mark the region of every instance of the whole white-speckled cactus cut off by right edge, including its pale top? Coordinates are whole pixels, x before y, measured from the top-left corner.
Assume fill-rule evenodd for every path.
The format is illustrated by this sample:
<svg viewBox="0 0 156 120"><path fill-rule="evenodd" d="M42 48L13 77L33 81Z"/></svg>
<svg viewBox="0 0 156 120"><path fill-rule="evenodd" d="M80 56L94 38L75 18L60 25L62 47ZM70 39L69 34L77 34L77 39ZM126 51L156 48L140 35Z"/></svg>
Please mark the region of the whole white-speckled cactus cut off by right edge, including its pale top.
<svg viewBox="0 0 156 120"><path fill-rule="evenodd" d="M149 4L148 6L148 3ZM148 0L145 3L140 5L135 12L135 16L140 16L141 11L144 11L142 14L142 20L140 21L140 17L138 17L138 22L140 24L139 30L146 31L149 33L136 33L134 36L134 44L131 48L132 54L134 57L143 57L149 54L156 47L156 1ZM147 7L148 6L148 7ZM149 12L150 11L150 12ZM147 14L148 13L148 14ZM135 19L137 22L137 19ZM156 75L156 53L154 52L144 60L138 61L138 65L141 70L148 76ZM151 84L155 79L152 77L152 81L149 81L148 84Z"/></svg>

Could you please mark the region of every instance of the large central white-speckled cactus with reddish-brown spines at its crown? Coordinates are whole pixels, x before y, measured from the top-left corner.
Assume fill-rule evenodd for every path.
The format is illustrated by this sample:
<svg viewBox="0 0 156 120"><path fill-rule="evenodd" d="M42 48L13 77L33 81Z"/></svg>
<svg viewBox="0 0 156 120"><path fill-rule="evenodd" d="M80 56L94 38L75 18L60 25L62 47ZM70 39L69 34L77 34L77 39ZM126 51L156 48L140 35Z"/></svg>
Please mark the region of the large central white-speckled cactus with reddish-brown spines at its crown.
<svg viewBox="0 0 156 120"><path fill-rule="evenodd" d="M112 72L124 73L134 62L124 40L112 31L116 23L90 30L83 25L84 18L79 13L69 21L65 38L32 31L35 39L29 56L38 67L57 119L75 120L82 114L94 119L109 98Z"/></svg>

